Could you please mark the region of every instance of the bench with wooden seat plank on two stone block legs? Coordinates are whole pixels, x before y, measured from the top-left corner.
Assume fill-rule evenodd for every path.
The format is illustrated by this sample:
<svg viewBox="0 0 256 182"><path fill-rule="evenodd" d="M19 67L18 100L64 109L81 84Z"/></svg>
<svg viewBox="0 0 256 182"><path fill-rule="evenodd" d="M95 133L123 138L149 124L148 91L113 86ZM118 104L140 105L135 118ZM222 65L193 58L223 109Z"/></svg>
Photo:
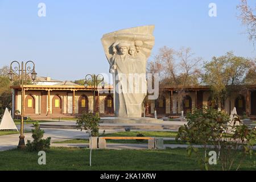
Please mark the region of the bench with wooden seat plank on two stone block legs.
<svg viewBox="0 0 256 182"><path fill-rule="evenodd" d="M154 137L99 137L98 138L98 148L106 148L106 139L113 140L148 140L148 149L155 148L155 138Z"/></svg>

